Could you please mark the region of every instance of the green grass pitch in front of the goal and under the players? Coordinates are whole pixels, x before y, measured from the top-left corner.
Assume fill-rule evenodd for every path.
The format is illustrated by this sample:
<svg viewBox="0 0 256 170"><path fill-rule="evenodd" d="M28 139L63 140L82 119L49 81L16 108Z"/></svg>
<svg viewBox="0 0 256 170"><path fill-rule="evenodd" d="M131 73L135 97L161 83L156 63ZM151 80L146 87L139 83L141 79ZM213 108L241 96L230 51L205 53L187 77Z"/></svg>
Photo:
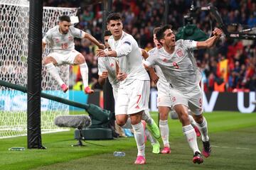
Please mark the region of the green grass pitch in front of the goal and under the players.
<svg viewBox="0 0 256 170"><path fill-rule="evenodd" d="M75 113L78 114L78 113ZM151 114L157 119L157 113ZM178 120L169 120L171 154L153 154L146 143L146 164L135 165L137 147L134 137L117 140L91 140L86 147L76 144L74 130L42 135L41 149L9 151L10 147L26 147L26 137L0 140L0 169L256 169L256 113L213 112L208 120L212 154L203 164L193 164L193 153L181 132ZM201 139L198 145L202 149ZM114 151L125 157L114 157Z"/></svg>

